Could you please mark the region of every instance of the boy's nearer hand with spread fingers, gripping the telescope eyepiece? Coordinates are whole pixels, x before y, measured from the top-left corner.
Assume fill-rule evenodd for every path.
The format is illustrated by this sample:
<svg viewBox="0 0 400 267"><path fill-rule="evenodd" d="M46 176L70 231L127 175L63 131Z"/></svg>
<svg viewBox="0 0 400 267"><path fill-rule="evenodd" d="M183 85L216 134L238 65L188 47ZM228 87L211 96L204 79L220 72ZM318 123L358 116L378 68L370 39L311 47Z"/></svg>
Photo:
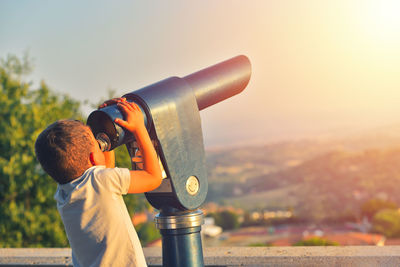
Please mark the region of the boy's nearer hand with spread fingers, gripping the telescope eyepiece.
<svg viewBox="0 0 400 267"><path fill-rule="evenodd" d="M125 120L117 118L115 123L134 134L139 129L145 129L142 111L136 103L123 100L118 102L117 106L125 116Z"/></svg>

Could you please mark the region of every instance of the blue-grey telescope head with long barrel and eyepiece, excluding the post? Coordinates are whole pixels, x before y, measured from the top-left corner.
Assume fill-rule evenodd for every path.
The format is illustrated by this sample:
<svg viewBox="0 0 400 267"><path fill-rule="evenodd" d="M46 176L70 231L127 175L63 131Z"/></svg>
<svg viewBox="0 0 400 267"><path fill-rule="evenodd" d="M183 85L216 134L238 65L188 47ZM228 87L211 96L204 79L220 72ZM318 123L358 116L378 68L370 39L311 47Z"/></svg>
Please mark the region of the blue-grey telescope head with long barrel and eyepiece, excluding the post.
<svg viewBox="0 0 400 267"><path fill-rule="evenodd" d="M199 111L243 91L251 75L250 61L237 56L183 78L171 77L125 94L145 114L150 137L157 140L167 179L146 197L155 208L193 210L205 200L208 183ZM94 111L88 118L94 135L114 137L112 149L133 141L114 123L122 118L116 106ZM111 129L111 130L110 130Z"/></svg>

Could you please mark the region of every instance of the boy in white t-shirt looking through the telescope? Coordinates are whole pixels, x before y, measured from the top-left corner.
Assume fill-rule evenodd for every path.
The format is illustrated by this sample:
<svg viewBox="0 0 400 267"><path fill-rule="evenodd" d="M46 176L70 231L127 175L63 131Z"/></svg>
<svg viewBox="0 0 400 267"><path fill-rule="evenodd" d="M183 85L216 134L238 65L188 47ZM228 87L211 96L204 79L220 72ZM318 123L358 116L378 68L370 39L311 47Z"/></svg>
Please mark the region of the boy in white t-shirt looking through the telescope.
<svg viewBox="0 0 400 267"><path fill-rule="evenodd" d="M139 107L117 98L126 120L115 122L134 134L144 167L114 167L114 152L102 152L88 126L61 120L48 126L35 143L43 169L58 182L54 198L72 249L74 266L146 266L122 195L151 191L161 184L157 154Z"/></svg>

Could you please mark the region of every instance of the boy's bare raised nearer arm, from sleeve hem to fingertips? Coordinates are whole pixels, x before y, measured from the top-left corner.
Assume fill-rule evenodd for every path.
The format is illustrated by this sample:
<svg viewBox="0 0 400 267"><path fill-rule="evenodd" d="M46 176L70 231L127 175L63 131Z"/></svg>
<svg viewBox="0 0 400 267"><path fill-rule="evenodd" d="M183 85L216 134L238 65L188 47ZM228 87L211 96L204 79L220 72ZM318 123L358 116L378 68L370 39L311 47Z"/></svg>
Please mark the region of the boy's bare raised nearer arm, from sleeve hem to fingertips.
<svg viewBox="0 0 400 267"><path fill-rule="evenodd" d="M144 126L143 114L135 103L121 101L117 105L126 120L116 119L115 122L135 136L143 159L143 170L130 171L131 183L128 193L143 193L156 189L162 181L161 169L157 153Z"/></svg>

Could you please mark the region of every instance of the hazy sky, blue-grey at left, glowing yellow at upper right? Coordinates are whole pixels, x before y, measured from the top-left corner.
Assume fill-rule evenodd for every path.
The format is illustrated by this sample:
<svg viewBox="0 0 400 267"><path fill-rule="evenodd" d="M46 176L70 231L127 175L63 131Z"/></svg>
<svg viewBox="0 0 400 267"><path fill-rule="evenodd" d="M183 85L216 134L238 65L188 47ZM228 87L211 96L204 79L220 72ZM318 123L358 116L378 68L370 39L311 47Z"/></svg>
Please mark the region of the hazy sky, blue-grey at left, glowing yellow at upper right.
<svg viewBox="0 0 400 267"><path fill-rule="evenodd" d="M268 143L399 124L398 14L396 0L2 0L0 57L29 51L34 82L97 103L246 55L250 83L201 111L204 140Z"/></svg>

